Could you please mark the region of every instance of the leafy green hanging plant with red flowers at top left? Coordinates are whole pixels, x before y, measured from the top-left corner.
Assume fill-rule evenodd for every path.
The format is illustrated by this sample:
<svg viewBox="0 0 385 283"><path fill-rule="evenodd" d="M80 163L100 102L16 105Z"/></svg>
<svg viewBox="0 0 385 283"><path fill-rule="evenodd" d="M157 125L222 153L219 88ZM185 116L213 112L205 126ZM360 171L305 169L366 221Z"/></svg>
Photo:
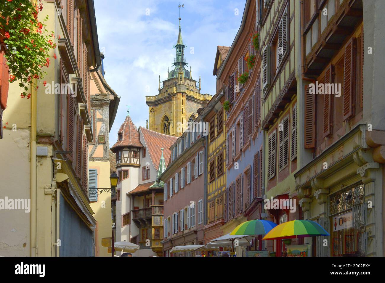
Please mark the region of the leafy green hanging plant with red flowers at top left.
<svg viewBox="0 0 385 283"><path fill-rule="evenodd" d="M0 37L8 50L5 54L12 83L19 80L21 97L27 96L29 87L38 88L33 79L42 79L44 67L49 67L51 49L56 48L54 32L45 30L46 15L42 21L38 14L43 9L42 1L30 0L0 1ZM58 37L60 39L60 36ZM56 59L56 54L54 54Z"/></svg>

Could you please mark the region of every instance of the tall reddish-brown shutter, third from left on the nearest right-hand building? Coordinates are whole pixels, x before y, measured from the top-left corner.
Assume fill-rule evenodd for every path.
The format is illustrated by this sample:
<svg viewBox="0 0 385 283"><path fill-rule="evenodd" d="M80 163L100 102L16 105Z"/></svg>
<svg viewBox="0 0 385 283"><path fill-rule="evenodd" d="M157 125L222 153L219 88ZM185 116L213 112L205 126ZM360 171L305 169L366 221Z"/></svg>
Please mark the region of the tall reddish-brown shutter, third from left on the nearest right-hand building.
<svg viewBox="0 0 385 283"><path fill-rule="evenodd" d="M354 37L345 45L345 58L343 62L343 120L353 116L354 86L355 86L355 51Z"/></svg>

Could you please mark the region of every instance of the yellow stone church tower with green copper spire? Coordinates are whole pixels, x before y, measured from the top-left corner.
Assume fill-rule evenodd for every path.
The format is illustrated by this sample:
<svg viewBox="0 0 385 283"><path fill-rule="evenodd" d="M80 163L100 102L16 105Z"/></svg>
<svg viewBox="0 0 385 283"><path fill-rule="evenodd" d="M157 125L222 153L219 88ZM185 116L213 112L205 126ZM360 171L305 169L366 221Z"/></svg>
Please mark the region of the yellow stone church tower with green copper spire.
<svg viewBox="0 0 385 283"><path fill-rule="evenodd" d="M180 9L180 8L179 8ZM186 130L189 121L198 116L197 110L205 107L211 100L211 95L201 94L201 79L192 79L191 67L187 70L184 57L184 45L181 32L181 17L179 15L179 33L176 45L176 57L172 70L167 70L167 79L161 84L159 76L159 94L146 96L149 107L149 129L179 137Z"/></svg>

